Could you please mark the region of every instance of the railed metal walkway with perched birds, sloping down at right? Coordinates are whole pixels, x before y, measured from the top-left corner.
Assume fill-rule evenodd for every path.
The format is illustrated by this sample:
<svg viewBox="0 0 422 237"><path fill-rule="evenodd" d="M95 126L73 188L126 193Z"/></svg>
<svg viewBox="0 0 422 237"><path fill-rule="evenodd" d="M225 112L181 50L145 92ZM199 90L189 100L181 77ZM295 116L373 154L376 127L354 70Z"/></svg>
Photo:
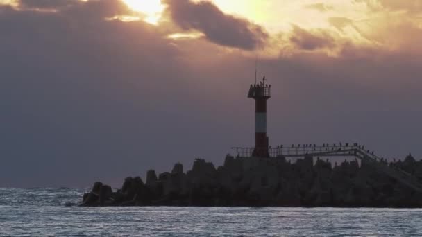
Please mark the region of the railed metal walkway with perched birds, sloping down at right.
<svg viewBox="0 0 422 237"><path fill-rule="evenodd" d="M251 157L255 148L233 148L239 157ZM312 157L356 157L367 164L371 164L378 168L382 173L396 179L398 182L412 188L414 191L422 193L421 180L407 173L397 167L390 167L385 159L380 158L365 150L364 146L359 146L357 143L353 145L345 144L324 144L323 146L316 146L312 144L302 146L278 146L276 148L269 148L270 157L286 157L286 158L301 158L306 156Z"/></svg>

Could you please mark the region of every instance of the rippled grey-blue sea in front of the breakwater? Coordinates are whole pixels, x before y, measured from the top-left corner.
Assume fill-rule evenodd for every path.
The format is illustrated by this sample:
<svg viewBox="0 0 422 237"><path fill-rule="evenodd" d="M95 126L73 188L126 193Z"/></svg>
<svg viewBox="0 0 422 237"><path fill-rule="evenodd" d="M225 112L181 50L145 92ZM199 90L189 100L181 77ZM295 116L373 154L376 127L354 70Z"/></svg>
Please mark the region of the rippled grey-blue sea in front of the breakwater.
<svg viewBox="0 0 422 237"><path fill-rule="evenodd" d="M422 236L422 209L77 207L83 192L0 188L0 236Z"/></svg>

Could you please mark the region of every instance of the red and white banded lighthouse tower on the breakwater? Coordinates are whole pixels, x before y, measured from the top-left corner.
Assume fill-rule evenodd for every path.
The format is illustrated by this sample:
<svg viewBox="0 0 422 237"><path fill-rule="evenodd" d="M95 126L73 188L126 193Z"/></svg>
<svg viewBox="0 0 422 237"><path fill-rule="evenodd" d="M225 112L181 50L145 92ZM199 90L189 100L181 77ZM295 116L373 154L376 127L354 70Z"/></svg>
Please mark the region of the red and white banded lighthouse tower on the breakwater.
<svg viewBox="0 0 422 237"><path fill-rule="evenodd" d="M251 85L248 98L255 100L255 148L254 157L269 157L269 141L267 137L267 100L271 98L271 85L262 82Z"/></svg>

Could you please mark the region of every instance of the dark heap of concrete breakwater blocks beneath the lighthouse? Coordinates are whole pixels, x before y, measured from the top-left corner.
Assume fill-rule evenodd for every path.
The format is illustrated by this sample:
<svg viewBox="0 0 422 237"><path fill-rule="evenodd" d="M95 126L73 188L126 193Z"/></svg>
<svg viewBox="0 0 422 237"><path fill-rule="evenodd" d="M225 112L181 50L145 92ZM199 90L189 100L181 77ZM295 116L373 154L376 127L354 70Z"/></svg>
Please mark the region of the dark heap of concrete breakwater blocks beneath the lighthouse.
<svg viewBox="0 0 422 237"><path fill-rule="evenodd" d="M422 161L412 156L385 166L422 177ZM96 182L81 206L422 207L422 193L364 161L228 155L218 168L196 159L187 173L176 164L158 176L149 170L145 182L127 177L117 191Z"/></svg>

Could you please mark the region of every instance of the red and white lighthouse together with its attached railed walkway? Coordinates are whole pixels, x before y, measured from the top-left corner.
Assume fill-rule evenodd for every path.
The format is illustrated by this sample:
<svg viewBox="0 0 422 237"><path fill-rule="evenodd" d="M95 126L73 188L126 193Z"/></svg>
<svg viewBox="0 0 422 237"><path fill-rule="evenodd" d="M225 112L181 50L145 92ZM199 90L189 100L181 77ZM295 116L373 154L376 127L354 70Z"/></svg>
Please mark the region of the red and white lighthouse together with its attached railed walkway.
<svg viewBox="0 0 422 237"><path fill-rule="evenodd" d="M277 146L271 148L267 137L267 100L271 98L271 85L265 84L265 77L262 82L251 85L248 98L255 99L255 147L254 148L233 148L238 157L277 157L277 158L303 158L303 157L355 157L368 164L372 164L381 170L388 177L396 179L398 182L412 188L414 191L422 192L422 182L416 179L412 173L408 173L400 168L391 168L385 159L377 157L374 152L365 149L354 143L324 143L323 146L314 144L298 144L298 146Z"/></svg>

